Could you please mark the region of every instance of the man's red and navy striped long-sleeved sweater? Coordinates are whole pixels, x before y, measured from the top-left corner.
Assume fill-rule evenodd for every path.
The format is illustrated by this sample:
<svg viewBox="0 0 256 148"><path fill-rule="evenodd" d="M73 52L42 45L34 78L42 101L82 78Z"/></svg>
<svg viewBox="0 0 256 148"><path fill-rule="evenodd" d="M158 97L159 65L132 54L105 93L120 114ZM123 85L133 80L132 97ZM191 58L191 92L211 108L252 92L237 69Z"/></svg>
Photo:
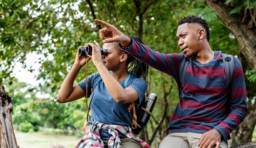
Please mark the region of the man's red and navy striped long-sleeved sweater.
<svg viewBox="0 0 256 148"><path fill-rule="evenodd" d="M126 52L157 70L167 73L179 83L179 64L183 54L162 54L144 44L132 41ZM167 134L193 132L203 134L218 130L225 141L227 135L241 123L247 114L247 95L241 62L234 58L235 71L231 87L231 112L226 115L227 89L221 52L206 64L190 59L184 87L178 105L170 120Z"/></svg>

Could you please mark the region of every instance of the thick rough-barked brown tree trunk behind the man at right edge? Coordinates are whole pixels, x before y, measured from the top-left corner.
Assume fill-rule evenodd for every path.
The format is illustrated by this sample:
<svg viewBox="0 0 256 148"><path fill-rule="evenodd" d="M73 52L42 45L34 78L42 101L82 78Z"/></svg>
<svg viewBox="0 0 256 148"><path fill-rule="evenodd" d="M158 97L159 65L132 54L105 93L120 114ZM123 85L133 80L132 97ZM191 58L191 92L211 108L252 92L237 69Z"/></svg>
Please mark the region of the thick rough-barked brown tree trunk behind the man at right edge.
<svg viewBox="0 0 256 148"><path fill-rule="evenodd" d="M233 9L226 5L224 1L206 0L206 3L212 7L217 16L222 20L224 25L233 32L240 47L241 53L247 58L251 67L256 68L256 29L255 26L243 23L242 15L230 14ZM254 19L254 18L252 18ZM248 104L248 115L244 121L239 124L236 130L231 133L230 146L243 144L251 141L253 129L256 124L255 104Z"/></svg>

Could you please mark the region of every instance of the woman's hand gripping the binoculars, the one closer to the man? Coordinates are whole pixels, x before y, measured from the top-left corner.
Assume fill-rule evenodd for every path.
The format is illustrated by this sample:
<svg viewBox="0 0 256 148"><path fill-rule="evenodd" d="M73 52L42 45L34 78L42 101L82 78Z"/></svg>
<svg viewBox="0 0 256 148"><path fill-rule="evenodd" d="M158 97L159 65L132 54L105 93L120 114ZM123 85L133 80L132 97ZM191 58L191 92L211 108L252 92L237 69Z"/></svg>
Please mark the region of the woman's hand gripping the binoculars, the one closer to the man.
<svg viewBox="0 0 256 148"><path fill-rule="evenodd" d="M90 56L90 58L92 58L94 65L97 66L99 64L103 64L103 62L102 62L100 44L97 43L96 41L94 41L94 43L95 44L88 43L88 45L90 45L92 47L92 55L88 55L88 56Z"/></svg>

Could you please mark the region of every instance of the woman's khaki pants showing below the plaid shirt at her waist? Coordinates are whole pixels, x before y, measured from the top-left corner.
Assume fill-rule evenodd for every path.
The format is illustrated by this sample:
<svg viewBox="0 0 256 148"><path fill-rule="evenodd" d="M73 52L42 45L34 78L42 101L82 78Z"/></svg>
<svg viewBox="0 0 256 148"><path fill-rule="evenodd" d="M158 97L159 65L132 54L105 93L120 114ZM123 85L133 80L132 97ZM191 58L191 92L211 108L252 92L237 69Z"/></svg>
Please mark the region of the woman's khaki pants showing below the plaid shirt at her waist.
<svg viewBox="0 0 256 148"><path fill-rule="evenodd" d="M123 148L141 148L140 143L133 139L121 138L120 140L121 140ZM104 147L108 147L107 142L108 142L108 140L103 140Z"/></svg>

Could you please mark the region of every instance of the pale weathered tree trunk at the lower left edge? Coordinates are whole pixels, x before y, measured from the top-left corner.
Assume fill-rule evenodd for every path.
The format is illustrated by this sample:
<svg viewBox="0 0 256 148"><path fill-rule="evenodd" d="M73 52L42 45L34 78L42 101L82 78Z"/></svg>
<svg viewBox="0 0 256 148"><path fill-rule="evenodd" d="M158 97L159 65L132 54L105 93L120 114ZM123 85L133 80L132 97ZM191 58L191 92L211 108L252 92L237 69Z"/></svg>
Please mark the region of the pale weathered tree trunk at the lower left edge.
<svg viewBox="0 0 256 148"><path fill-rule="evenodd" d="M11 99L0 85L0 148L19 147L13 132L12 110Z"/></svg>

